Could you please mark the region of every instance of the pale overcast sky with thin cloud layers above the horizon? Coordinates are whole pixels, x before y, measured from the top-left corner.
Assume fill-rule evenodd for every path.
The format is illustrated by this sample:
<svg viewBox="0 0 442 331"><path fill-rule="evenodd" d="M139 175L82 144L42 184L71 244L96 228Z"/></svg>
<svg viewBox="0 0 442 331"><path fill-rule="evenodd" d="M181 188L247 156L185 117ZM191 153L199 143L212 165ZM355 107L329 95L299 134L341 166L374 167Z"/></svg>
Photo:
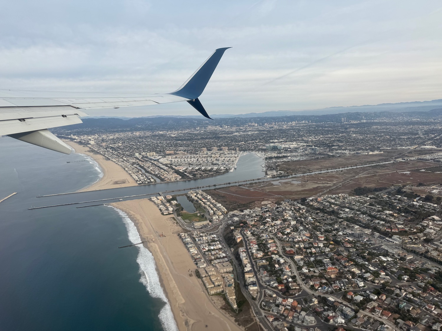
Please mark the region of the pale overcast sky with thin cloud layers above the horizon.
<svg viewBox="0 0 442 331"><path fill-rule="evenodd" d="M231 46L200 97L209 114L442 98L440 0L0 1L2 89L168 93Z"/></svg>

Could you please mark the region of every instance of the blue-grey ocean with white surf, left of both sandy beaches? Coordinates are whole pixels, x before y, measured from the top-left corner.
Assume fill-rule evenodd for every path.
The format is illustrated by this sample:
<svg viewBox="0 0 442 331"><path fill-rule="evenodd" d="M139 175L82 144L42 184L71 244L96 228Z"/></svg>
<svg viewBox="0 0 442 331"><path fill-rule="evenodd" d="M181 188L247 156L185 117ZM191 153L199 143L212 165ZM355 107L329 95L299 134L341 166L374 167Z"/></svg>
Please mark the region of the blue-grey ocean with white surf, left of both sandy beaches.
<svg viewBox="0 0 442 331"><path fill-rule="evenodd" d="M125 214L27 210L97 181L85 159L0 137L0 199L18 192L0 203L0 330L174 330L150 252L118 248L138 236Z"/></svg>

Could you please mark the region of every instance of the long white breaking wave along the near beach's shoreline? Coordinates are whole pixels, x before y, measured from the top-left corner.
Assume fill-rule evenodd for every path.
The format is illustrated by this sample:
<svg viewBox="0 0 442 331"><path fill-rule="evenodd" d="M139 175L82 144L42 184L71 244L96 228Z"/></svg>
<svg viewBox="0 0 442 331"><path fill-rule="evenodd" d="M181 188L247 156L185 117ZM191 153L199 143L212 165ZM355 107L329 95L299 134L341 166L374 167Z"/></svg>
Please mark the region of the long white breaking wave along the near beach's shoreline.
<svg viewBox="0 0 442 331"><path fill-rule="evenodd" d="M133 224L127 214L118 208L112 206L109 207L113 208L121 216L124 225L126 226L130 242L132 242L132 244L139 243L141 241L140 235L138 234L135 224ZM143 245L137 245L137 248L137 263L140 266L141 274L140 282L146 287L152 297L160 298L165 303L158 316L161 325L163 326L164 331L178 331L169 301L161 288L160 278L156 272L156 264L152 253Z"/></svg>

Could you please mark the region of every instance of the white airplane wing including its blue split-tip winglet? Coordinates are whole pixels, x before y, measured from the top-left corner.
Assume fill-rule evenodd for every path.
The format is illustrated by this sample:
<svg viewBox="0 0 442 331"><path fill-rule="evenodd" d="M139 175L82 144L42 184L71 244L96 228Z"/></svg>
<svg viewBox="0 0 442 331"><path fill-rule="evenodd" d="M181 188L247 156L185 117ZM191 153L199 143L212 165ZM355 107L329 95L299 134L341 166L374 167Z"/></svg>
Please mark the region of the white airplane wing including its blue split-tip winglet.
<svg viewBox="0 0 442 331"><path fill-rule="evenodd" d="M204 117L210 118L198 97L209 82L221 56L230 47L216 49L178 90L167 94L96 94L63 97L47 92L47 98L33 98L32 91L0 90L0 136L8 135L37 146L70 154L71 148L48 128L82 123L88 116L81 109L120 108L187 101ZM15 97L12 97L14 95ZM17 96L19 95L19 96Z"/></svg>

